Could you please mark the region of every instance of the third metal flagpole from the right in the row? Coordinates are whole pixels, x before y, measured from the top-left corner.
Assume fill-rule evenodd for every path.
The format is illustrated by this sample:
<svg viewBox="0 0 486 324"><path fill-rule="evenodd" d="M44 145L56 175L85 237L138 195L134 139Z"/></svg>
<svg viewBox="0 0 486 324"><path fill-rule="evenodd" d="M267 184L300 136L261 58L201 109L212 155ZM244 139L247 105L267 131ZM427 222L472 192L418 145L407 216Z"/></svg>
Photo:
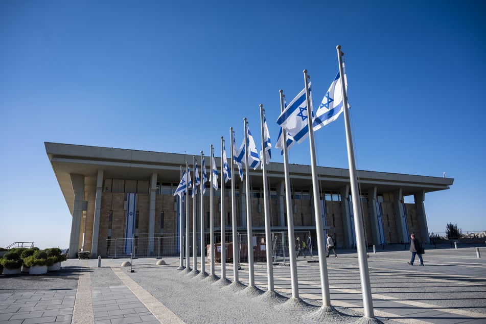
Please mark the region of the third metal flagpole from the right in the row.
<svg viewBox="0 0 486 324"><path fill-rule="evenodd" d="M282 112L285 109L283 90L280 90L280 109ZM299 298L297 260L295 258L295 248L294 248L295 237L294 237L294 217L292 213L292 189L290 186L290 175L289 175L287 131L285 129L282 129L282 138L283 138L283 152L284 152L285 203L287 207L287 233L288 233L287 236L289 240L290 282L292 288L292 298Z"/></svg>

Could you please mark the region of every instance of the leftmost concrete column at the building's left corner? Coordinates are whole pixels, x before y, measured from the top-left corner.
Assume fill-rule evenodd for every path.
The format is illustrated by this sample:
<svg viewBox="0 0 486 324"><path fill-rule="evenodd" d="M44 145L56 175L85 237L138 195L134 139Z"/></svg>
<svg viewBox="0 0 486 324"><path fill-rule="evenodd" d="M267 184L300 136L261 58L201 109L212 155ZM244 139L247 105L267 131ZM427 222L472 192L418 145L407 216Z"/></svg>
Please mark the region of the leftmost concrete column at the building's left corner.
<svg viewBox="0 0 486 324"><path fill-rule="evenodd" d="M71 174L71 184L74 192L74 203L68 258L74 259L79 250L79 235L81 232L81 220L83 219L84 176L80 174Z"/></svg>

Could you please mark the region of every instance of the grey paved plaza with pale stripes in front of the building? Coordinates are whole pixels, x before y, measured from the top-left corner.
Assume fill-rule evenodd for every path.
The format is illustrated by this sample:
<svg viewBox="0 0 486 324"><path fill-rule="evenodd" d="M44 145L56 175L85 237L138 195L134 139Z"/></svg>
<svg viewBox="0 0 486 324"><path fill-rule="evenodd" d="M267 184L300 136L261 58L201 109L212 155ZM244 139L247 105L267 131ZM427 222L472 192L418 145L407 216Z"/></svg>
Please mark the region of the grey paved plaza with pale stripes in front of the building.
<svg viewBox="0 0 486 324"><path fill-rule="evenodd" d="M422 267L418 260L408 265L410 252L399 246L370 250L376 318L384 323L486 323L486 247L479 251L482 258L475 247L429 246ZM273 267L275 293L270 294L266 263L254 264L255 291L246 287L247 264L239 270L242 285L227 285L178 270L178 258L164 258L165 265L134 259L131 268L121 267L127 259L102 259L101 267L98 260L70 259L47 275L1 275L0 323L362 321L357 253L337 252L338 258L326 259L335 309L330 313L320 307L319 264L310 257L297 260L299 299L290 298L288 264ZM210 272L207 263L205 271ZM219 264L215 274L221 276ZM226 278L233 281L232 263Z"/></svg>

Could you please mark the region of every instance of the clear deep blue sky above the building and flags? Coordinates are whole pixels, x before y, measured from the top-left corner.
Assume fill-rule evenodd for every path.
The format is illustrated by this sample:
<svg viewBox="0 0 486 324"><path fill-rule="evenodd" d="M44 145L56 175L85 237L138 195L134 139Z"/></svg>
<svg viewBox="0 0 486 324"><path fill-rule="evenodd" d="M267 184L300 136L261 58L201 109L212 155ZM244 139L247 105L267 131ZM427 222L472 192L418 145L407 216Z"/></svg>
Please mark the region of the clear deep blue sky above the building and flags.
<svg viewBox="0 0 486 324"><path fill-rule="evenodd" d="M317 107L342 45L357 168L454 178L426 194L429 232L486 230L483 1L0 2L0 246L68 246L44 142L209 152L243 118L276 140L279 90ZM348 168L342 116L319 166ZM258 145L260 147L260 145ZM274 160L281 162L273 151ZM290 163L310 164L308 140Z"/></svg>

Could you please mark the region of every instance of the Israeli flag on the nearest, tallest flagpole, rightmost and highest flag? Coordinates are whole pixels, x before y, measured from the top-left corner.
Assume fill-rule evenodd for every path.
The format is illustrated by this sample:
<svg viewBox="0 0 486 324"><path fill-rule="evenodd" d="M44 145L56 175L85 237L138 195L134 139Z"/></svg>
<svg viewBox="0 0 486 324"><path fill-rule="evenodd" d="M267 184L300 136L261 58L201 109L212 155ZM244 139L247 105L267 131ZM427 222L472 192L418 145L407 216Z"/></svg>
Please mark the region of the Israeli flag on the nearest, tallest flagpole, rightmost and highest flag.
<svg viewBox="0 0 486 324"><path fill-rule="evenodd" d="M348 90L348 81L346 80L346 72L345 70L343 71L344 71L345 87L346 90ZM316 131L323 126L326 126L327 124L334 122L339 117L342 111L343 111L342 87L341 87L341 79L339 77L339 72L338 72L333 82L331 83L328 92L326 92L326 95L322 99L319 108L315 112L315 118L314 121L312 122L312 129Z"/></svg>

